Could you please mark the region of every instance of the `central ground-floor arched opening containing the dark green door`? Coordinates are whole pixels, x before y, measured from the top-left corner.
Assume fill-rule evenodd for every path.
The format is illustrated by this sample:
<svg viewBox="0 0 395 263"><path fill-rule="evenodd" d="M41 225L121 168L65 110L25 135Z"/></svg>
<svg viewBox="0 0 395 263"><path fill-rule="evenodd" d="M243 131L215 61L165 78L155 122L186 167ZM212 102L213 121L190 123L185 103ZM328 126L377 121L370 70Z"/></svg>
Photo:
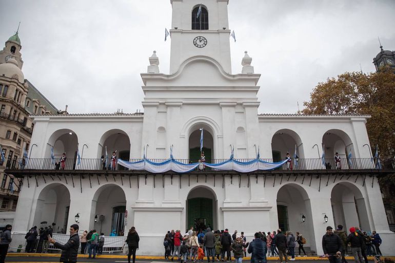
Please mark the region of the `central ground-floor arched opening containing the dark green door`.
<svg viewBox="0 0 395 263"><path fill-rule="evenodd" d="M210 227L212 230L217 229L218 201L215 193L204 186L192 189L186 200L186 226L189 229L204 230Z"/></svg>

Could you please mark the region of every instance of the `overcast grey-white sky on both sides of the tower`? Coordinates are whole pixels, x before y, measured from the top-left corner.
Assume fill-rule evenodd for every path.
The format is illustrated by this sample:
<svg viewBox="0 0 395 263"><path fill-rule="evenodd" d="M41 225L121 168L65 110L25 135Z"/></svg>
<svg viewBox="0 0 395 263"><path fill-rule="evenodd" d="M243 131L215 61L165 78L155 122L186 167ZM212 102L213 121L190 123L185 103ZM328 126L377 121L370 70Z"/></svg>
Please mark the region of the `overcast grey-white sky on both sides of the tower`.
<svg viewBox="0 0 395 263"><path fill-rule="evenodd" d="M247 50L262 74L260 113L295 113L326 78L374 71L378 36L395 49L393 0L230 0L228 10L232 72ZM143 111L153 50L169 72L171 11L169 0L0 0L0 43L21 21L25 78L58 109Z"/></svg>

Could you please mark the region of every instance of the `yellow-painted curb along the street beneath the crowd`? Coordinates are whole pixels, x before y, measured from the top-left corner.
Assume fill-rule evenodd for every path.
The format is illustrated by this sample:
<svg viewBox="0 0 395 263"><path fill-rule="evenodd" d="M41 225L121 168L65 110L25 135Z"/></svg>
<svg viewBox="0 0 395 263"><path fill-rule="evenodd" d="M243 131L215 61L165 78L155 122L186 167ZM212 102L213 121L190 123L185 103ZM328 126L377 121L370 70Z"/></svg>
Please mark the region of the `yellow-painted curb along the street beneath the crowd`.
<svg viewBox="0 0 395 263"><path fill-rule="evenodd" d="M14 256L14 257L60 257L61 254L51 254L51 253L8 253L7 256ZM78 258L87 258L88 255L81 255L78 254ZM127 258L127 255L100 255L96 256L97 258ZM395 260L395 256L382 256L383 258L391 258ZM374 257L368 257L368 259L373 260ZM136 259L164 259L164 256L136 256ZM207 259L205 257L205 259ZM232 257L232 259L234 259ZM251 257L243 257L245 260L250 260ZM267 257L268 260L278 260L278 257ZM346 259L352 260L354 257L346 257ZM326 260L325 257L319 256L309 256L309 257L295 257L295 260ZM177 262L177 260L174 260Z"/></svg>

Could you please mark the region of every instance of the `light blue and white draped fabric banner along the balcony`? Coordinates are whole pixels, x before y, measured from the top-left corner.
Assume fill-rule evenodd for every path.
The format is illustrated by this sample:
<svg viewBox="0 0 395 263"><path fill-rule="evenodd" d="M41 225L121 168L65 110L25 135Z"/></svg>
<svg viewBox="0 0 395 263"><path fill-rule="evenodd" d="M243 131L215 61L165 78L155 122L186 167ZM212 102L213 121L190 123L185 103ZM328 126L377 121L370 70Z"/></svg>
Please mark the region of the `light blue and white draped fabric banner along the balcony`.
<svg viewBox="0 0 395 263"><path fill-rule="evenodd" d="M278 163L268 163L267 161L263 161L261 159L254 159L243 163L235 159L229 159L220 164L204 163L204 166L222 171L238 171L242 173L248 173L257 170L273 170L282 166L287 161L288 159L279 161ZM201 163L183 164L174 159L168 159L163 163L154 163L153 161L150 161L148 159L143 159L130 163L129 161L118 159L118 165L129 168L130 170L145 170L151 173L164 173L168 171L173 171L176 173L189 173L198 168L199 164Z"/></svg>

